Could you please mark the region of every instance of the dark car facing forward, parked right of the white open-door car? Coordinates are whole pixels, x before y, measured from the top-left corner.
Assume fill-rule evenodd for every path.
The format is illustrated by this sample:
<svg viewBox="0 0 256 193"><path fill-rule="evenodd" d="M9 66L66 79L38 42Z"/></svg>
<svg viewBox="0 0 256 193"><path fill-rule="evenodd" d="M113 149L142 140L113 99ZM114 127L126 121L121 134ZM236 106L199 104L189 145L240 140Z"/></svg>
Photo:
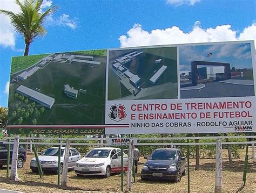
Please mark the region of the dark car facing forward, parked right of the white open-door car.
<svg viewBox="0 0 256 193"><path fill-rule="evenodd" d="M176 148L163 148L153 151L143 165L140 177L142 180L165 179L179 182L185 174L186 160L183 152Z"/></svg>

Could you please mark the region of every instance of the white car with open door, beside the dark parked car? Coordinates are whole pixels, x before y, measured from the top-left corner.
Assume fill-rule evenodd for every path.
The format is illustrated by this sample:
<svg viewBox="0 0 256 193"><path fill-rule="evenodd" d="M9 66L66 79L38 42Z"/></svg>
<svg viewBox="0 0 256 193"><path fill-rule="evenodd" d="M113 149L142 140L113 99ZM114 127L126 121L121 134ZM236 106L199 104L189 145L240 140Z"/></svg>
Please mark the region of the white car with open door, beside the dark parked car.
<svg viewBox="0 0 256 193"><path fill-rule="evenodd" d="M127 171L128 155L123 153L124 170ZM75 173L82 175L104 175L121 171L121 149L112 147L94 148L77 161Z"/></svg>

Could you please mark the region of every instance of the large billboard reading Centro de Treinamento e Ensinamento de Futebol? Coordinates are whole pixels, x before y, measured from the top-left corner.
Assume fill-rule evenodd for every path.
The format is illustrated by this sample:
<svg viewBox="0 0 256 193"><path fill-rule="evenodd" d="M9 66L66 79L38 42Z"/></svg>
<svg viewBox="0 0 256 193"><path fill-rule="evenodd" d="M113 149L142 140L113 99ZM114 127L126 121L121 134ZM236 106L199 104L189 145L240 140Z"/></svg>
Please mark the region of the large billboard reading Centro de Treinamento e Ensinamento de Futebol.
<svg viewBox="0 0 256 193"><path fill-rule="evenodd" d="M16 57L9 129L255 132L255 67L253 41Z"/></svg>

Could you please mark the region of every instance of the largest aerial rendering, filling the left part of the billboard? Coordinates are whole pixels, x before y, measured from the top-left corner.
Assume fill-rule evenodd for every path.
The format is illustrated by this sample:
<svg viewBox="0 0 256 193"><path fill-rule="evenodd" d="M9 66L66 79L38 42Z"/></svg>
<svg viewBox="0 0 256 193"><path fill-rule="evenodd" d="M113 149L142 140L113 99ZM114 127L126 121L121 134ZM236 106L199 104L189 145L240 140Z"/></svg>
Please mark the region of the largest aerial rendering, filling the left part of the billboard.
<svg viewBox="0 0 256 193"><path fill-rule="evenodd" d="M103 124L105 54L97 50L13 58L16 66L28 59L35 63L11 74L9 124Z"/></svg>

